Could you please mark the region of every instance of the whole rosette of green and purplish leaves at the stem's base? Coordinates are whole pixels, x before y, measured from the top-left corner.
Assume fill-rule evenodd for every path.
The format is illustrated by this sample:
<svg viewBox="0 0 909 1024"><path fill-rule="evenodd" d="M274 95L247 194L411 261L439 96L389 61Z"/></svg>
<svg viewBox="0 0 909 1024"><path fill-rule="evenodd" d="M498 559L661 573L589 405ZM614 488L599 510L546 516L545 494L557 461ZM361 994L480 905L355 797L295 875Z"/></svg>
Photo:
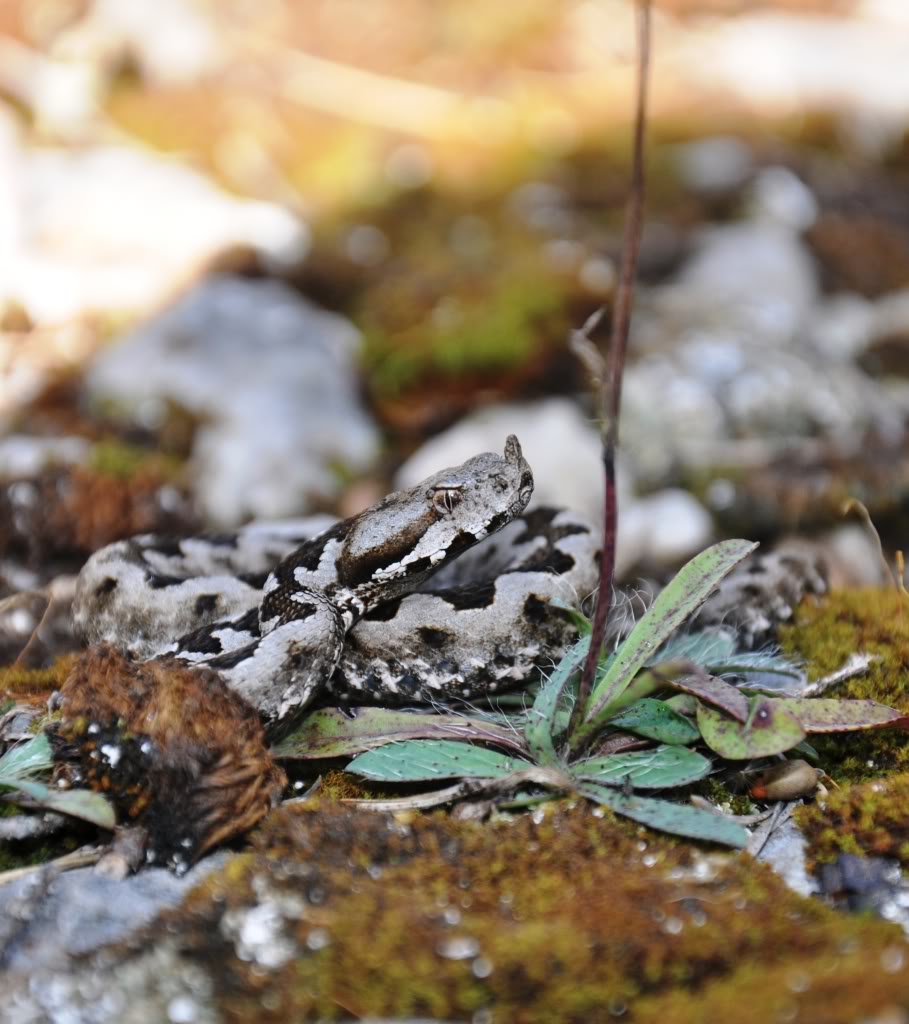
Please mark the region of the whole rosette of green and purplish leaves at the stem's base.
<svg viewBox="0 0 909 1024"><path fill-rule="evenodd" d="M454 780L407 798L410 807L479 794L505 795L515 806L575 793L663 831L743 847L748 833L731 818L652 794L690 785L724 762L805 751L814 732L906 724L899 712L874 701L787 693L786 683L800 676L797 667L737 653L727 634L679 635L755 547L724 541L685 565L604 658L579 712L572 714L572 697L589 636L565 654L517 719L361 709L351 721L322 711L274 753L312 758L359 751L347 770L383 784ZM738 685L722 678L730 674Z"/></svg>

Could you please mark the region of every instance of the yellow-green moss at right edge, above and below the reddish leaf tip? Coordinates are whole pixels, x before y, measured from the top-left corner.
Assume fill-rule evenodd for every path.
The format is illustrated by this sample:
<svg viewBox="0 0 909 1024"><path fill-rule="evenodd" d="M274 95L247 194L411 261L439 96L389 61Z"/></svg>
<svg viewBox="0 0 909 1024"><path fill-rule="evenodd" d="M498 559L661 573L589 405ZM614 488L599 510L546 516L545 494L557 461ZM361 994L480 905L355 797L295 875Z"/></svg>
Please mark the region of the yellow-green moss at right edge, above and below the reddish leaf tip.
<svg viewBox="0 0 909 1024"><path fill-rule="evenodd" d="M804 658L812 678L842 668L856 652L877 654L869 671L827 695L872 699L909 715L909 602L894 590L845 590L803 604L780 631L786 654ZM909 770L909 743L900 729L813 736L820 766L836 781L862 781Z"/></svg>

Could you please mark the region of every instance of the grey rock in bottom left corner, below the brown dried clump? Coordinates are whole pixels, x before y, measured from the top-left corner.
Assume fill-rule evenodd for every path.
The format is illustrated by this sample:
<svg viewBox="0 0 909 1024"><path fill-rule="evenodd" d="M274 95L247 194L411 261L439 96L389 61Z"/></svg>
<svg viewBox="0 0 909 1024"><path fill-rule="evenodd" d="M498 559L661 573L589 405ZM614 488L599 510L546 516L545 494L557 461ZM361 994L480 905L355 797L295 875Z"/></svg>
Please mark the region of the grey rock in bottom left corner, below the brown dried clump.
<svg viewBox="0 0 909 1024"><path fill-rule="evenodd" d="M118 881L90 867L36 870L0 886L0 969L62 968L70 958L116 942L175 906L229 854L207 857L178 877L148 867Z"/></svg>

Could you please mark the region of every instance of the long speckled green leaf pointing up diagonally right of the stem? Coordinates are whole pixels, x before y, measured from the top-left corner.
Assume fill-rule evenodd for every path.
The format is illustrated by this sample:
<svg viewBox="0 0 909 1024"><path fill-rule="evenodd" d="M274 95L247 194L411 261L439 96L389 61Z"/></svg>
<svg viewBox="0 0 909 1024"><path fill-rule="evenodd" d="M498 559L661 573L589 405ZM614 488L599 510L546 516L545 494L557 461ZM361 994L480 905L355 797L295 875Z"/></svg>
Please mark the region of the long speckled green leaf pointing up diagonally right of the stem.
<svg viewBox="0 0 909 1024"><path fill-rule="evenodd" d="M721 541L684 565L656 597L591 694L585 720L572 737L575 749L606 720L609 708L635 675L652 658L686 618L756 544L748 541Z"/></svg>

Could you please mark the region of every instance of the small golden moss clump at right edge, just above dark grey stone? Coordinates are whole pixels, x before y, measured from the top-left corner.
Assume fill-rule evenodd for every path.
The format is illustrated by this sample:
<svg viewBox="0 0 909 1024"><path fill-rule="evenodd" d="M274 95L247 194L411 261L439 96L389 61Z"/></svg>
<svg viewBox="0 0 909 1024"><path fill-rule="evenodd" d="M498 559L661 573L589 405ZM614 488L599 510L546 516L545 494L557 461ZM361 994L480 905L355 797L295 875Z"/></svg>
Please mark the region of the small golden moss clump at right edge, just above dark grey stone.
<svg viewBox="0 0 909 1024"><path fill-rule="evenodd" d="M894 857L909 864L909 773L847 785L796 811L813 861L840 853Z"/></svg>

